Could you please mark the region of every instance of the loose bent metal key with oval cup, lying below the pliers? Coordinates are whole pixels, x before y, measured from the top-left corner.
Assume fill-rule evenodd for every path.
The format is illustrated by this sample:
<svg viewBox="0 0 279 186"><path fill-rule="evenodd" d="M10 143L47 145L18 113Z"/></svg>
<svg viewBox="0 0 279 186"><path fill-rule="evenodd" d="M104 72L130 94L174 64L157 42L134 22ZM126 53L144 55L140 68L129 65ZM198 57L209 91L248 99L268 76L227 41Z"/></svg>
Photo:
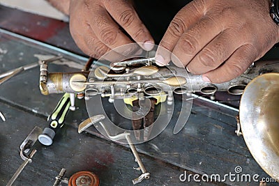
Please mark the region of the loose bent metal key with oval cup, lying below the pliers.
<svg viewBox="0 0 279 186"><path fill-rule="evenodd" d="M135 160L136 160L137 164L140 166L139 169L142 171L142 175L140 175L138 178L135 178L133 180L133 184L140 183L144 179L149 179L150 173L148 173L146 171L144 164L142 163L142 160L140 159L140 155L137 153L137 149L135 148L135 145L133 144L132 140L130 139L130 134L122 133L122 134L118 134L116 136L112 136L110 134L110 132L107 130L107 128L105 127L105 125L102 123L102 120L104 118L105 118L105 116L103 116L102 114L99 114L99 115L92 116L91 118L86 119L85 121L80 123L80 125L78 127L78 132L81 133L84 130L86 130L86 128L88 128L91 125L93 125L94 123L98 122L100 124L100 126L103 127L103 130L105 130L105 133L107 134L107 137L109 139L112 139L114 141L118 141L120 139L126 139L130 146L130 149L132 150L133 155L135 156Z"/></svg>

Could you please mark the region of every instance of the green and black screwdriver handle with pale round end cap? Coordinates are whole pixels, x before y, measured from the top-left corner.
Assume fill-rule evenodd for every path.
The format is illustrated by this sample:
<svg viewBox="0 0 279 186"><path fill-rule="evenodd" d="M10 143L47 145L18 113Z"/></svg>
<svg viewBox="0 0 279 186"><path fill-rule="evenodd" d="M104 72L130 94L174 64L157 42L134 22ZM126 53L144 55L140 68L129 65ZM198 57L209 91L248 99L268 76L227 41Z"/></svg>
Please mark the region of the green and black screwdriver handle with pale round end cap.
<svg viewBox="0 0 279 186"><path fill-rule="evenodd" d="M38 140L45 146L50 146L53 142L56 132L63 127L66 115L68 114L70 107L70 93L65 93L54 111L47 118L49 123L48 127L45 127L43 133L38 136Z"/></svg>

